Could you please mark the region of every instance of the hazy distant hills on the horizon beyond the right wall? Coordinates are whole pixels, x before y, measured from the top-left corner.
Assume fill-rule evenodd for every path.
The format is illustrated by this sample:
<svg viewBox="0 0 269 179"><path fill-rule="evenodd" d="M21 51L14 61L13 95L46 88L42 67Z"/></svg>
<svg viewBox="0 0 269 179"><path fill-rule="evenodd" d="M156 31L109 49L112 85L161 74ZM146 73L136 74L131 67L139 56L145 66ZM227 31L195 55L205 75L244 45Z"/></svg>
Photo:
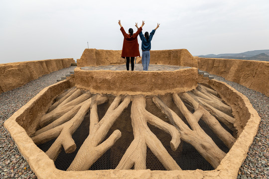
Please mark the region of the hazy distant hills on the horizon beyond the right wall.
<svg viewBox="0 0 269 179"><path fill-rule="evenodd" d="M231 53L231 54L219 54L219 55L208 54L208 55L199 55L198 57L269 61L269 50L253 50L243 53L234 53L234 54Z"/></svg>

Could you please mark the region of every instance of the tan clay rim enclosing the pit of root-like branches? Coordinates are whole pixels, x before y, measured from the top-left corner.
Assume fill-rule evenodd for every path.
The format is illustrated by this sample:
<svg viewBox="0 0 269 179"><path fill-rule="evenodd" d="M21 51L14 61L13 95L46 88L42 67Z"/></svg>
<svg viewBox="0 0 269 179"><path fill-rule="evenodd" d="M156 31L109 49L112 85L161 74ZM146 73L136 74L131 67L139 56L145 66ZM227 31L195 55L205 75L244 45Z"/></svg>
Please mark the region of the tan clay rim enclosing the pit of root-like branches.
<svg viewBox="0 0 269 179"><path fill-rule="evenodd" d="M175 78L178 77L175 76ZM198 78L198 83L210 85L232 107L233 114L237 119L236 126L239 130L235 144L217 169L213 171L103 170L66 172L57 170L53 161L33 143L29 135L36 128L38 122L35 122L35 120L38 120L45 113L52 100L64 89L75 85L74 78L59 82L40 91L7 119L4 122L4 127L10 133L20 153L27 160L38 179L236 179L237 172L246 158L261 119L248 98L227 84L204 78L201 80ZM130 86L132 86L131 83Z"/></svg>

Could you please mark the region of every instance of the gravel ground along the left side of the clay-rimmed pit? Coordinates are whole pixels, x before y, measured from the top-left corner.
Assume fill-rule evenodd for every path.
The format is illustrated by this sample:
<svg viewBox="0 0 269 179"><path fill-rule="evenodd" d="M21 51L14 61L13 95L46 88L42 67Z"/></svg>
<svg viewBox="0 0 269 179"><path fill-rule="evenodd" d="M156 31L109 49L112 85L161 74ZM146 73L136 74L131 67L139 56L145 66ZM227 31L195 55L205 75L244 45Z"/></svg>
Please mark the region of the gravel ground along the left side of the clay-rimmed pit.
<svg viewBox="0 0 269 179"><path fill-rule="evenodd" d="M57 80L76 66L71 66L33 80L22 87L0 94L0 179L37 179L27 162L20 155L3 123L15 111L26 104L39 91L57 83Z"/></svg>

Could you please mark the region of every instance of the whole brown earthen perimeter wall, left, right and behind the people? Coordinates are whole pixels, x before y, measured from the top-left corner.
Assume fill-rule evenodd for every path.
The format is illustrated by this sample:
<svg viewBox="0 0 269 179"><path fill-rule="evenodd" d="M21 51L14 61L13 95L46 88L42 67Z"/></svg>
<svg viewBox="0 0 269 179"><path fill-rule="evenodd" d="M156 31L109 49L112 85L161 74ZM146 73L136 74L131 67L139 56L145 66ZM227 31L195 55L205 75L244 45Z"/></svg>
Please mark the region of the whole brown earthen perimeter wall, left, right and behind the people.
<svg viewBox="0 0 269 179"><path fill-rule="evenodd" d="M0 93L20 87L53 71L67 68L73 59L0 64ZM141 63L136 58L136 63ZM121 50L85 49L78 67L125 64ZM195 67L269 96L269 62L193 57L186 49L152 50L150 64Z"/></svg>

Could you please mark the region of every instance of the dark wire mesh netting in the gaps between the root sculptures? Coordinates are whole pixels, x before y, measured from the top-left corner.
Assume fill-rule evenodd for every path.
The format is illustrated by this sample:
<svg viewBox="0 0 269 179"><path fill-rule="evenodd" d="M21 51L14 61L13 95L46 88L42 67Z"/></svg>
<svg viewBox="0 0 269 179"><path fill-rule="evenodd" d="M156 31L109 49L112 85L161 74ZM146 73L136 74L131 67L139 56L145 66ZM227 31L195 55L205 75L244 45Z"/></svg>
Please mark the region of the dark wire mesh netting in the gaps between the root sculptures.
<svg viewBox="0 0 269 179"><path fill-rule="evenodd" d="M164 103L166 104L168 103L167 106L171 108L182 119L182 121L184 121L184 123L191 129L191 125L187 122L184 115L173 103L171 94L168 94L166 96L159 96L159 98L161 98L164 101ZM99 123L105 115L108 115L106 113L114 99L115 96L110 95L109 100L107 102L98 105L97 112ZM186 104L186 106L188 105ZM110 169L116 169L116 167L119 165L120 161L122 160L126 151L130 147L131 143L134 141L134 129L132 126L131 108L132 108L132 102L130 102L128 107L124 109L123 112L119 115L119 117L114 122L112 127L108 130L105 138L102 140L101 143L106 141L115 130L121 131L121 137L118 140L116 140L114 145L112 145L107 151L100 154L99 159L96 162L94 162L94 164L91 165L88 170L110 170ZM172 125L168 117L164 113L162 113L162 111L152 102L152 96L146 96L146 110L151 114L155 115L156 117L158 117L159 119L163 120L164 122ZM194 112L191 106L189 107L189 110L191 112ZM228 153L229 148L222 142L221 139L217 137L217 135L210 129L210 127L203 120L199 120L198 124L205 131L205 133L208 136L210 136L210 138L212 138L214 143L217 145L219 149L221 149L221 151L223 151L224 153ZM221 125L224 126L227 129L227 131L232 134L232 130L227 128L223 123L221 123ZM161 142L163 147L166 149L169 155L173 158L173 160L182 170L196 170L196 169L204 171L214 170L212 165L188 141L181 140L178 148L175 151L173 151L170 147L170 141L171 141L170 134L149 123L147 123L147 126L150 129L150 131ZM84 120L82 121L80 126L72 134L72 138L76 144L76 150L68 154L62 147L57 159L54 162L57 169L63 171L66 171L68 169L68 167L74 161L79 149L85 142L85 139L89 136L89 128L90 128L90 110L85 115ZM135 132L143 133L146 131L135 131ZM47 141L43 144L38 144L37 146L42 151L46 152L54 143L54 141L55 139ZM139 150L140 149L137 148L137 150L134 150L134 152L139 152ZM95 155L96 153L99 152L98 149L91 151L92 153L85 153L84 155L85 158L80 159L79 162L83 162L89 156ZM145 153L146 153L146 169L166 170L163 164L159 161L158 157L154 155L154 153L150 150L149 147L146 147ZM134 166L131 169L134 169Z"/></svg>

